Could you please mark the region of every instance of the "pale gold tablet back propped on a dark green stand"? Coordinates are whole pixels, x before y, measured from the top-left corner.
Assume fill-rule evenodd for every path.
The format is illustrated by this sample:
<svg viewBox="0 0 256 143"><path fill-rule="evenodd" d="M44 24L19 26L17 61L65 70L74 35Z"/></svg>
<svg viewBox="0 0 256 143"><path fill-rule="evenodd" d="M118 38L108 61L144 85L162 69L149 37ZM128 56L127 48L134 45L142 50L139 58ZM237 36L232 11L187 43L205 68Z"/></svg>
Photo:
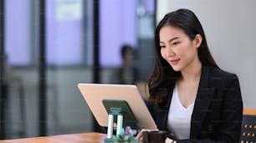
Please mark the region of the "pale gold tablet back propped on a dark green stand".
<svg viewBox="0 0 256 143"><path fill-rule="evenodd" d="M156 123L135 85L79 83L78 88L100 126L108 126L108 111L103 101L116 100L125 101L129 105L139 128L157 130Z"/></svg>

